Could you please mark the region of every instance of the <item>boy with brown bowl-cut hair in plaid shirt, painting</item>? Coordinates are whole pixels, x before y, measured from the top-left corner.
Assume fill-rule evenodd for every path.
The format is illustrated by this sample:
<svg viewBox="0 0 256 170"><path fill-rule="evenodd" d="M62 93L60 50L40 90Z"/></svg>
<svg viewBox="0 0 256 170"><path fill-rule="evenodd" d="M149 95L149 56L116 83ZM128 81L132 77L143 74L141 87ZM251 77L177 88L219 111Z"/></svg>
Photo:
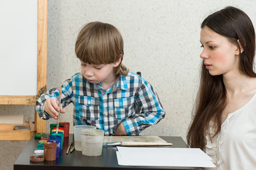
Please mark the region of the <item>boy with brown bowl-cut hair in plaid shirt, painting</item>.
<svg viewBox="0 0 256 170"><path fill-rule="evenodd" d="M165 112L153 87L122 64L122 35L108 23L85 25L75 43L81 72L62 87L61 106L74 104L74 125L95 125L105 135L140 135ZM36 101L40 118L57 118L60 89L50 89Z"/></svg>

